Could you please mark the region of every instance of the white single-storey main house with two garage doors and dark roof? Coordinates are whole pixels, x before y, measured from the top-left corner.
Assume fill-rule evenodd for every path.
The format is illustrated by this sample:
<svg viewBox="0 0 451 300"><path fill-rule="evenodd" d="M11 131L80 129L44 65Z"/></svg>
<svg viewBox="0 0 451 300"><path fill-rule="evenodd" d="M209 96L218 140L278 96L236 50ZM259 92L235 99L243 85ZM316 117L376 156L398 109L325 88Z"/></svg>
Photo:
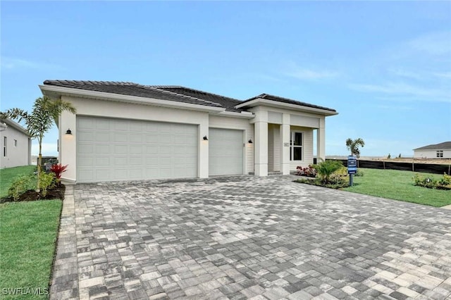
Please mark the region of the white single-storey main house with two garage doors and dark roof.
<svg viewBox="0 0 451 300"><path fill-rule="evenodd" d="M289 174L325 158L334 109L261 94L246 101L178 86L46 80L77 108L58 122L66 183Z"/></svg>

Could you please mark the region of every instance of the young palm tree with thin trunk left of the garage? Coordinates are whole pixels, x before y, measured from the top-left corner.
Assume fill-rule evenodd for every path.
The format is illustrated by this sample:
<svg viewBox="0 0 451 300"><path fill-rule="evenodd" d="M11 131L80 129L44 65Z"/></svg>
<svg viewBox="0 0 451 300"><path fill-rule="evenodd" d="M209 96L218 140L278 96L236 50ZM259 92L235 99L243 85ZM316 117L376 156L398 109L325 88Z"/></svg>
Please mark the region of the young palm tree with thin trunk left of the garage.
<svg viewBox="0 0 451 300"><path fill-rule="evenodd" d="M47 96L39 97L35 100L31 113L20 108L11 108L0 114L0 119L16 119L20 123L22 120L30 134L30 137L37 139L39 144L39 158L37 160L37 192L40 190L40 177L42 173L42 139L54 123L58 122L58 115L63 111L75 113L75 107L70 102L61 99L53 100Z"/></svg>

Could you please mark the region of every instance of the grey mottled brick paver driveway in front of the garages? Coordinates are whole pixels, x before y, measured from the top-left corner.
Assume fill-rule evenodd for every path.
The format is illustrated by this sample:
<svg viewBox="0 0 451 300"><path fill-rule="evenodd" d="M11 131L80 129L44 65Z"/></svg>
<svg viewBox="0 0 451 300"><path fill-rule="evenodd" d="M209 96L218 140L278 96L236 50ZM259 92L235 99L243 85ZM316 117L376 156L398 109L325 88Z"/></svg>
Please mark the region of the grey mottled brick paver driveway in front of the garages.
<svg viewBox="0 0 451 300"><path fill-rule="evenodd" d="M76 185L51 298L451 297L451 211L293 178Z"/></svg>

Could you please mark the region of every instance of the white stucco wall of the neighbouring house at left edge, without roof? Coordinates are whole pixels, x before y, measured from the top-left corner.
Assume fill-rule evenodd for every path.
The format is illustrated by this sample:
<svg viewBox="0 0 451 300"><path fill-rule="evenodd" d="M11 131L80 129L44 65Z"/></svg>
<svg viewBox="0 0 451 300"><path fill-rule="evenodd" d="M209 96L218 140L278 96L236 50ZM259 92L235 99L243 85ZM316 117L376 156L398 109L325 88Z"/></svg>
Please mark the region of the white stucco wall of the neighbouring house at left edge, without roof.
<svg viewBox="0 0 451 300"><path fill-rule="evenodd" d="M4 156L4 142L6 137L6 156ZM14 141L17 141L15 143ZM20 165L31 164L31 140L20 130L12 126L6 127L6 130L0 132L1 168L12 168Z"/></svg>

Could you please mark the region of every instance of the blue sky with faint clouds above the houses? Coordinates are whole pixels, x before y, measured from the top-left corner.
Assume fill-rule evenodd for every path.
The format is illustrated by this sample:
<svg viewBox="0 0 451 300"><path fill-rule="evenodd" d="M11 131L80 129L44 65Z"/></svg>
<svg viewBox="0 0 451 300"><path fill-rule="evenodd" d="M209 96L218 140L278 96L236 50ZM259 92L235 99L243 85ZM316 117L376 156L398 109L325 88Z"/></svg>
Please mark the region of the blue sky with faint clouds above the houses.
<svg viewBox="0 0 451 300"><path fill-rule="evenodd" d="M335 108L326 154L451 140L451 1L0 1L1 106L44 80L267 93ZM44 155L56 155L56 129ZM33 146L33 153L37 153Z"/></svg>

